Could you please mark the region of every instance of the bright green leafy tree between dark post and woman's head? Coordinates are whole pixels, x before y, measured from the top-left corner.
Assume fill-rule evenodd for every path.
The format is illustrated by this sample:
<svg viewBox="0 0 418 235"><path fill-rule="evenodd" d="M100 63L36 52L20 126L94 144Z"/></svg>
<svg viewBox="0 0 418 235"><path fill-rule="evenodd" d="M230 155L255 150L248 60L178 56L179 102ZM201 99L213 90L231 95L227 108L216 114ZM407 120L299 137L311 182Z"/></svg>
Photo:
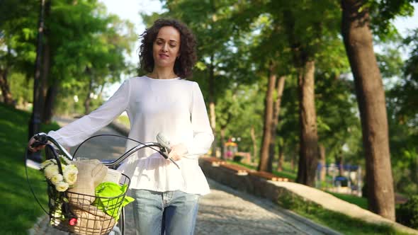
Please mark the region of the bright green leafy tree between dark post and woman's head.
<svg viewBox="0 0 418 235"><path fill-rule="evenodd" d="M129 66L124 53L136 40L132 23L108 15L97 1L53 1L47 25L51 62L43 121L50 121L60 89L67 96L84 97L89 113L91 95L118 81Z"/></svg>

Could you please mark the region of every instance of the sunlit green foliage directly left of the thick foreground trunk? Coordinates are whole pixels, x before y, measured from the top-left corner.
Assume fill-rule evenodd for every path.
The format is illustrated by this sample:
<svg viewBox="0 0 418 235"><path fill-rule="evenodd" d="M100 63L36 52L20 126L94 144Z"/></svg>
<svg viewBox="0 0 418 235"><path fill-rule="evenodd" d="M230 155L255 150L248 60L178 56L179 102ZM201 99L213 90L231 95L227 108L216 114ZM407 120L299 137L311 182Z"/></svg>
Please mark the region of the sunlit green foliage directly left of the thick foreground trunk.
<svg viewBox="0 0 418 235"><path fill-rule="evenodd" d="M358 164L361 125L354 84L344 76L328 72L317 72L316 78L318 135L320 143L326 147L327 160L334 162L337 156L344 154L351 164Z"/></svg>

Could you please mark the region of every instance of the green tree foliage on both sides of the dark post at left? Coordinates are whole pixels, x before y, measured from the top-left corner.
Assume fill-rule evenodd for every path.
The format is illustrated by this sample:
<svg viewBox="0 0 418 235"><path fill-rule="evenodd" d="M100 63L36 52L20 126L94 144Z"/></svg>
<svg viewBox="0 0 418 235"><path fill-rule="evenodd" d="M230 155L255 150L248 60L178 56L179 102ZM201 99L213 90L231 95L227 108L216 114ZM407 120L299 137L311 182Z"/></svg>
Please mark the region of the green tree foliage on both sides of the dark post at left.
<svg viewBox="0 0 418 235"><path fill-rule="evenodd" d="M6 7L1 8L0 70L8 70L11 76L24 74L30 81L40 1L13 2L5 1L2 6ZM121 73L130 73L125 53L136 40L132 23L106 13L96 0L46 2L43 53L47 57L49 52L50 62L43 62L45 91L46 86L56 84L62 88L63 100L77 94L84 101L90 93L101 96L106 84L120 81ZM13 87L13 96L19 103L29 102L27 86L18 86ZM58 103L57 109L62 110L62 100Z"/></svg>

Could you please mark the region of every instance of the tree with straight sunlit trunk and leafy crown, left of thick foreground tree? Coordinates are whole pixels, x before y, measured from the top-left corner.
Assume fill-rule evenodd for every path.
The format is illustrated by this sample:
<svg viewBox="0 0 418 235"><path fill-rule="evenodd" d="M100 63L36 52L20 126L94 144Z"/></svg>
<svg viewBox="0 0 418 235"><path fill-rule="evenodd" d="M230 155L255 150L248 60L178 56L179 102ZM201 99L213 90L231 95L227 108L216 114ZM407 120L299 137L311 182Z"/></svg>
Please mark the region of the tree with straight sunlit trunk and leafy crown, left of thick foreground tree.
<svg viewBox="0 0 418 235"><path fill-rule="evenodd" d="M318 134L315 110L315 68L327 47L335 48L338 11L335 1L274 1L286 28L286 38L293 55L298 78L300 154L298 183L315 185ZM307 17L309 16L309 17Z"/></svg>

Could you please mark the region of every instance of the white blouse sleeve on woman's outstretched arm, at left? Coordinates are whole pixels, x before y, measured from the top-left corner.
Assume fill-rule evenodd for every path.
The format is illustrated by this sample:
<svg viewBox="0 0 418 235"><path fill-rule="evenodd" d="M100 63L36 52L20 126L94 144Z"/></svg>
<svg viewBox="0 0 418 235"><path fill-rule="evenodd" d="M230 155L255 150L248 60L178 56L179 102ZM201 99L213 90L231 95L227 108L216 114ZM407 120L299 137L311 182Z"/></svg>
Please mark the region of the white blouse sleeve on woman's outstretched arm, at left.
<svg viewBox="0 0 418 235"><path fill-rule="evenodd" d="M74 122L65 125L57 131L50 131L48 135L57 140L64 147L73 147L103 127L106 127L116 117L128 108L130 97L130 80L125 80L111 98L103 105Z"/></svg>

